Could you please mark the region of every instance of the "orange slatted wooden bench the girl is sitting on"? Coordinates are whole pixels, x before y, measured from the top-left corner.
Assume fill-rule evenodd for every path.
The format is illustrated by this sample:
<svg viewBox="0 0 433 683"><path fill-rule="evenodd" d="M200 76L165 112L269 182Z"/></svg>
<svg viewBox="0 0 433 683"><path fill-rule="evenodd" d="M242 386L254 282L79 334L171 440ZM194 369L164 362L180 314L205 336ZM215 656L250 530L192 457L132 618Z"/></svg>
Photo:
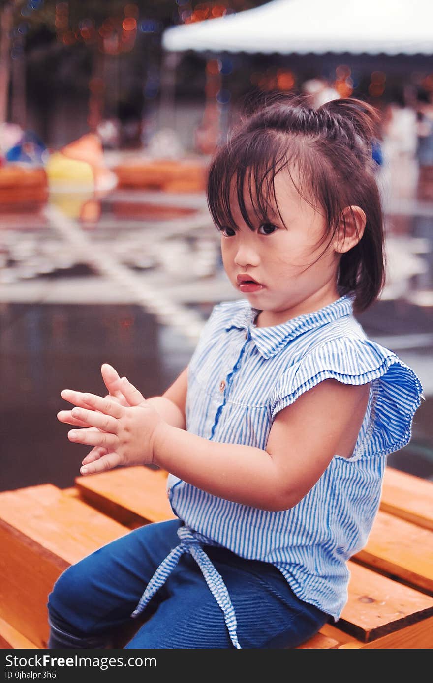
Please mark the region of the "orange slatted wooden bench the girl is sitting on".
<svg viewBox="0 0 433 683"><path fill-rule="evenodd" d="M0 647L47 647L57 576L131 529L173 517L166 473L148 467L77 477L65 490L42 484L0 493ZM302 649L433 646L432 482L386 469L367 546L349 567L341 618Z"/></svg>

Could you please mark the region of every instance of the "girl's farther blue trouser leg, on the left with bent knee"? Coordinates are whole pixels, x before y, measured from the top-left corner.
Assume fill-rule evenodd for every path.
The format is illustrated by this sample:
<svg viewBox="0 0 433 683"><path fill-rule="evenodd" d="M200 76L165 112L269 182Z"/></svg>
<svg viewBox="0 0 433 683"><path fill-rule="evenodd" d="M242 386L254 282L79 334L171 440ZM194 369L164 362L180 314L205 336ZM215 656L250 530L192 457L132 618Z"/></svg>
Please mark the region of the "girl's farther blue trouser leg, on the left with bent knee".
<svg viewBox="0 0 433 683"><path fill-rule="evenodd" d="M179 544L179 524L168 520L135 529L63 572L47 604L49 647L107 647L116 628L137 623L131 612L157 566ZM163 598L164 587L147 614Z"/></svg>

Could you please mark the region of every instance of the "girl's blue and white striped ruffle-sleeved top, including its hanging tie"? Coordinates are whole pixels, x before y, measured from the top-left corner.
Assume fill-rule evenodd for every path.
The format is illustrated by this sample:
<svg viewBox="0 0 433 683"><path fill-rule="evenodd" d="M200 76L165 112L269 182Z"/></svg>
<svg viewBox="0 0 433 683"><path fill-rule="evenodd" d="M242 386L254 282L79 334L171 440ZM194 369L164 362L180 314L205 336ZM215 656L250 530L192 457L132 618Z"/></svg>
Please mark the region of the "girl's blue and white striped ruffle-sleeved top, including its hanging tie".
<svg viewBox="0 0 433 683"><path fill-rule="evenodd" d="M378 511L386 455L409 441L423 387L389 349L367 339L354 318L354 294L273 327L257 328L245 299L213 308L188 367L187 431L221 443L265 449L279 410L319 382L371 382L350 458L335 455L290 510L269 512L213 496L169 475L170 503L184 525L180 544L161 563L134 615L189 552L224 612L239 647L236 617L220 574L202 550L224 546L274 564L291 589L335 621L347 602L346 561L365 546Z"/></svg>

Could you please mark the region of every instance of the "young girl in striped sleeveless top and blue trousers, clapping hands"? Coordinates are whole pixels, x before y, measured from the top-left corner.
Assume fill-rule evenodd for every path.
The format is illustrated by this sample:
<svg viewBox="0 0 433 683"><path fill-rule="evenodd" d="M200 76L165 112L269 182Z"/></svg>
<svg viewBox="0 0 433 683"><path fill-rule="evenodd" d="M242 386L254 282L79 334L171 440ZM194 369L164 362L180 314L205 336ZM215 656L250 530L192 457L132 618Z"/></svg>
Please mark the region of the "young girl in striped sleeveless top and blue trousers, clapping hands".
<svg viewBox="0 0 433 683"><path fill-rule="evenodd" d="M296 647L347 601L387 454L421 382L354 312L384 283L371 146L358 100L252 113L216 154L209 208L244 296L216 305L187 368L144 400L103 365L109 395L62 391L60 421L94 448L81 474L155 464L176 520L135 529L68 568L49 647ZM140 622L139 622L140 623Z"/></svg>

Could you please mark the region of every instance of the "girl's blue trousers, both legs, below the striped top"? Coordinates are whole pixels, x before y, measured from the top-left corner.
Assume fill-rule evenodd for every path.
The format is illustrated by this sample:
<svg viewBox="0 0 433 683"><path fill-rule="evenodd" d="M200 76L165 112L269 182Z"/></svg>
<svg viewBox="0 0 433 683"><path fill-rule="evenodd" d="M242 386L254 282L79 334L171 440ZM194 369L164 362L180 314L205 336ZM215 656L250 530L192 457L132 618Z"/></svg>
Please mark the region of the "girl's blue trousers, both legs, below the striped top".
<svg viewBox="0 0 433 683"><path fill-rule="evenodd" d="M135 529L63 572L49 594L48 647L113 647L113 637L131 627L135 634L126 648L233 647L222 610L189 553L150 600L146 621L130 617L159 563L179 544L180 524L168 520ZM326 613L296 597L272 564L226 548L203 548L231 596L241 647L296 647L328 621Z"/></svg>

